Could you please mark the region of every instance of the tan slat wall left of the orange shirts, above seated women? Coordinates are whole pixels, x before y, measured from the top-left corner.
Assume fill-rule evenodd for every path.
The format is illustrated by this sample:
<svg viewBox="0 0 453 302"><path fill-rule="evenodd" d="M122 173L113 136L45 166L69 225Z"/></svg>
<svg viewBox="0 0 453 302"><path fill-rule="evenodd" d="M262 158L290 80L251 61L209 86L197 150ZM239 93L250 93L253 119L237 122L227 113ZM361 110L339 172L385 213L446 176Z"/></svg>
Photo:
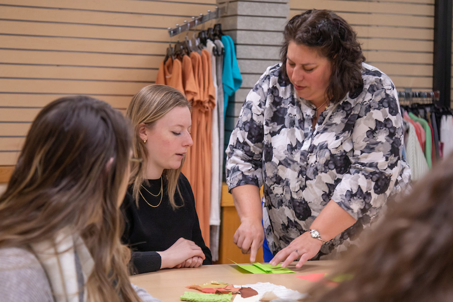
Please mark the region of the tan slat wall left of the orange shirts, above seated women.
<svg viewBox="0 0 453 302"><path fill-rule="evenodd" d="M39 110L87 94L124 112L154 83L168 27L215 10L215 0L0 0L0 183Z"/></svg>

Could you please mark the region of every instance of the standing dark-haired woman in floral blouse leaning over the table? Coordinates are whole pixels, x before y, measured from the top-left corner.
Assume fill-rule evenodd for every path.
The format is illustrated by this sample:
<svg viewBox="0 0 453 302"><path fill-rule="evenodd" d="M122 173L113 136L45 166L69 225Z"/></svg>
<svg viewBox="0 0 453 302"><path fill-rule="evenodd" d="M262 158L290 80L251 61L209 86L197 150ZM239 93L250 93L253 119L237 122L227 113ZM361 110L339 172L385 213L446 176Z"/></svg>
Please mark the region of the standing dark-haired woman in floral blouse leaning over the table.
<svg viewBox="0 0 453 302"><path fill-rule="evenodd" d="M395 86L363 62L346 21L327 10L294 16L281 59L247 96L226 179L241 218L235 244L254 262L266 236L271 264L300 267L357 245L410 172Z"/></svg>

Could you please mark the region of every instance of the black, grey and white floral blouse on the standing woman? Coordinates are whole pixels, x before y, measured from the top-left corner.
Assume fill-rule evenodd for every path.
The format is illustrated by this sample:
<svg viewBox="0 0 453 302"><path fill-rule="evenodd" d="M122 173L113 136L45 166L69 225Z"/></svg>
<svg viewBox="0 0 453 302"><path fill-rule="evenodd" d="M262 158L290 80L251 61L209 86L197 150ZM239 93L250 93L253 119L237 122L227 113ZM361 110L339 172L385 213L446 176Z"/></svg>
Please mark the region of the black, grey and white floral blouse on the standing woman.
<svg viewBox="0 0 453 302"><path fill-rule="evenodd" d="M313 128L315 106L297 96L280 67L268 67L247 96L226 149L226 181L230 190L264 185L274 255L334 200L357 222L315 259L338 258L409 182L397 91L386 74L362 63L363 88L330 104Z"/></svg>

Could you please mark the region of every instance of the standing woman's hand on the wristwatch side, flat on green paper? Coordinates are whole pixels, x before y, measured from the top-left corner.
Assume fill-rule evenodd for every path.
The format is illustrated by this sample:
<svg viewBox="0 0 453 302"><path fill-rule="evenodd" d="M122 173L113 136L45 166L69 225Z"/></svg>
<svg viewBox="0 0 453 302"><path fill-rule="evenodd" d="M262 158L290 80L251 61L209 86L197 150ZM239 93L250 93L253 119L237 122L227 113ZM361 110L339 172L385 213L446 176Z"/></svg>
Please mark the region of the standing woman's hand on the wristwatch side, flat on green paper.
<svg viewBox="0 0 453 302"><path fill-rule="evenodd" d="M296 264L296 267L299 268L307 260L315 257L322 245L323 242L321 240L312 238L310 232L305 232L294 239L286 248L279 251L269 263L275 266L283 261L281 267L287 267L291 262L300 257Z"/></svg>

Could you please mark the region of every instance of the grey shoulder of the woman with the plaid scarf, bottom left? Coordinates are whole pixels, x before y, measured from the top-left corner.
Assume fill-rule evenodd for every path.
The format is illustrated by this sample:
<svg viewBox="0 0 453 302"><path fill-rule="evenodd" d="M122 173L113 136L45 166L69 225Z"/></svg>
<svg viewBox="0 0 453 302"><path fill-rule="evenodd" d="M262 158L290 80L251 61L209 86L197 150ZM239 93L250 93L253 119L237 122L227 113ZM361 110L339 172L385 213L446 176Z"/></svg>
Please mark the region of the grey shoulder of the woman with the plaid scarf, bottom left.
<svg viewBox="0 0 453 302"><path fill-rule="evenodd" d="M53 301L46 273L28 249L0 249L0 296L6 301Z"/></svg>

